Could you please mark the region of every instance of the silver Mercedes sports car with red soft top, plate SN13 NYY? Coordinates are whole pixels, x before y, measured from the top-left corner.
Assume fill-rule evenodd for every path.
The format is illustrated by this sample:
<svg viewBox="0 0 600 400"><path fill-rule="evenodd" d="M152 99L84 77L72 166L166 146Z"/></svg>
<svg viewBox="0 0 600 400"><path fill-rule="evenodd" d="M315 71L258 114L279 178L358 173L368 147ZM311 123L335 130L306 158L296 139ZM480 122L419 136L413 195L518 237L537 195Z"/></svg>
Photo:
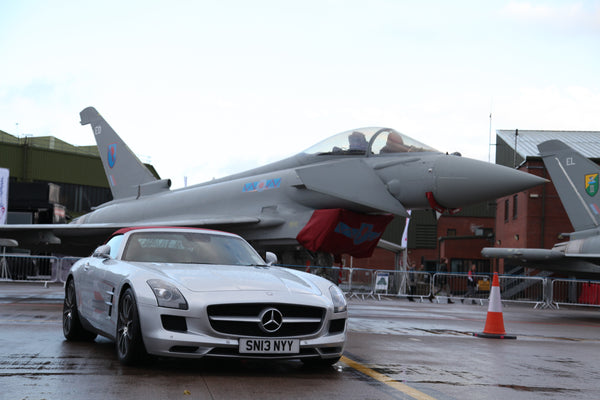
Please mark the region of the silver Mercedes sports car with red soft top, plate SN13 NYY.
<svg viewBox="0 0 600 400"><path fill-rule="evenodd" d="M336 285L265 264L237 235L133 228L73 265L63 332L114 340L124 364L151 354L329 365L342 355L346 319Z"/></svg>

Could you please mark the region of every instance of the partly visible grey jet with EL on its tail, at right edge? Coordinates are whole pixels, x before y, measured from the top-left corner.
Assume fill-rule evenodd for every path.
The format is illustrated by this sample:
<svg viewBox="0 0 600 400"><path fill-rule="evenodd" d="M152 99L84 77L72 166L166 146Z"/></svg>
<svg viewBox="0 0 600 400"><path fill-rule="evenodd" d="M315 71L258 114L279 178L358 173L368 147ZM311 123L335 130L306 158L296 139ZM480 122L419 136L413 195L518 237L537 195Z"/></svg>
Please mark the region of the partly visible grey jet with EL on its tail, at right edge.
<svg viewBox="0 0 600 400"><path fill-rule="evenodd" d="M484 257L518 260L540 270L581 278L600 277L600 167L560 140L538 145L544 165L567 211L573 228L570 238L552 249L485 247Z"/></svg>

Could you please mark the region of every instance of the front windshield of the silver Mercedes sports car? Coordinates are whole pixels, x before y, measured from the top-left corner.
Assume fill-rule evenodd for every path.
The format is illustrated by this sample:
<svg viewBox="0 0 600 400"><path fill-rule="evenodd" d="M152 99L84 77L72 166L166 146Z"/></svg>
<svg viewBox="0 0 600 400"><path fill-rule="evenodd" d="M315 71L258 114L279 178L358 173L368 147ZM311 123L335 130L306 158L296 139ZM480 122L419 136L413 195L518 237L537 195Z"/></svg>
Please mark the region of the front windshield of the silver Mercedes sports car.
<svg viewBox="0 0 600 400"><path fill-rule="evenodd" d="M135 232L129 236L122 259L157 263L265 265L243 239L205 232Z"/></svg>

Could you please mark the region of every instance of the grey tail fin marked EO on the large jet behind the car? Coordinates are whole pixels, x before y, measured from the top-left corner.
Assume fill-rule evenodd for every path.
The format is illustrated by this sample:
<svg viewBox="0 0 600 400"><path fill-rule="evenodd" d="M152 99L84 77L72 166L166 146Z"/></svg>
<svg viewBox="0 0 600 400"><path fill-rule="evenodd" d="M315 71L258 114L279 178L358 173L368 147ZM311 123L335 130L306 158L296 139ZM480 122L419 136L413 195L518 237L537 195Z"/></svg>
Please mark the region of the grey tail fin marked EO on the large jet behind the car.
<svg viewBox="0 0 600 400"><path fill-rule="evenodd" d="M84 109L79 116L81 125L92 126L104 172L115 200L156 192L155 186L168 189L169 181L157 180L94 107ZM144 190L148 187L154 190Z"/></svg>

